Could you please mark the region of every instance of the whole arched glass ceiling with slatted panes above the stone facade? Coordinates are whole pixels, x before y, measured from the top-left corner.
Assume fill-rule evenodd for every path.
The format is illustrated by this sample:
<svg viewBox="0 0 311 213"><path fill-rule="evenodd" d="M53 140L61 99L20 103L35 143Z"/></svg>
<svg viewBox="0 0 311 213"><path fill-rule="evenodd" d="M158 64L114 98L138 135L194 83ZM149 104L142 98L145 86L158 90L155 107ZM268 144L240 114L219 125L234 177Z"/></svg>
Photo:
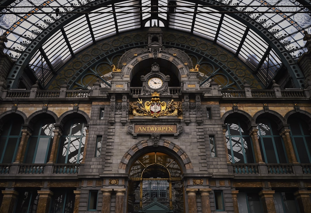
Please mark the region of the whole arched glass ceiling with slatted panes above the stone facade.
<svg viewBox="0 0 311 213"><path fill-rule="evenodd" d="M61 65L79 50L110 35L151 26L157 21L158 25L164 24L215 41L244 60L267 85L281 67L282 59L271 48L269 39L262 39L256 31L258 28L251 29L250 25L242 23L239 15L248 15L252 25L262 25L270 32L268 35L274 35L294 58L306 51L303 32L310 32L311 24L310 11L306 6L289 0L231 0L221 3L178 0L175 8L168 7L175 3L172 0L102 2L19 0L11 3L2 8L0 16L0 33L6 33L8 39L4 52L21 60L21 54L33 45L37 36L48 33L49 39L40 48L35 48L31 59L25 61L41 84L47 85ZM60 12L56 13L55 9ZM232 13L238 16L233 18L230 16ZM70 16L75 19L70 18L71 21L63 27L55 27L58 19ZM53 30L50 32L51 26Z"/></svg>

